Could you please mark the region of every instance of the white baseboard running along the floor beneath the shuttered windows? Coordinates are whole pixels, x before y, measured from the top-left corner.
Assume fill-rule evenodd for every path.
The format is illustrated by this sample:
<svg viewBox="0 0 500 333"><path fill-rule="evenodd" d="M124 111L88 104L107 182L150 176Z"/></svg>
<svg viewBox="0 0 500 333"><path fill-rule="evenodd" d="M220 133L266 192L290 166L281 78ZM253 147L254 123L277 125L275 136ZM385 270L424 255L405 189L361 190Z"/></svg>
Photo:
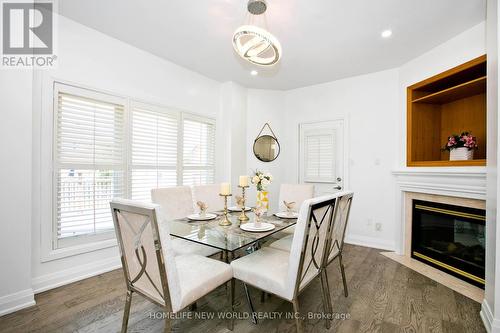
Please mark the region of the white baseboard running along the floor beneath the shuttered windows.
<svg viewBox="0 0 500 333"><path fill-rule="evenodd" d="M33 278L32 287L35 293L40 293L98 274L106 273L120 267L121 261L118 256L107 258Z"/></svg>

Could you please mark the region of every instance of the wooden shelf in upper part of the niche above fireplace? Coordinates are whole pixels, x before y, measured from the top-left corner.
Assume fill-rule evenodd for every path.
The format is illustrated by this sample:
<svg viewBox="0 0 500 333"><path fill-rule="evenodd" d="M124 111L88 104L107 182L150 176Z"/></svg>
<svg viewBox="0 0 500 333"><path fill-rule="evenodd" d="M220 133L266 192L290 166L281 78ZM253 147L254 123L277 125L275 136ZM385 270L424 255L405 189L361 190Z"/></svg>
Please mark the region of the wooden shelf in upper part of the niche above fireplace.
<svg viewBox="0 0 500 333"><path fill-rule="evenodd" d="M444 104L474 96L486 91L486 76L417 98L412 103Z"/></svg>

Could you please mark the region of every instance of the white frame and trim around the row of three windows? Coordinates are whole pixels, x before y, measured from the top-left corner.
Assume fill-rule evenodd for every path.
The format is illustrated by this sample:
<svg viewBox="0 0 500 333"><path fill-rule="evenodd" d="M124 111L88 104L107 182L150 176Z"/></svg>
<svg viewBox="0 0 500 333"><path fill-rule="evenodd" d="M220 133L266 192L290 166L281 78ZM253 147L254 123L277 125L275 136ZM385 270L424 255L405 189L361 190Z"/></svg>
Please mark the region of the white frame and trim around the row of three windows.
<svg viewBox="0 0 500 333"><path fill-rule="evenodd" d="M96 235L80 235L71 237L67 239L63 247L57 244L57 217L55 215L54 207L57 207L57 201L54 195L56 184L56 164L55 164L55 141L56 136L56 126L57 126L57 96L58 91L61 90L61 86L64 87L64 91L68 93L73 93L76 95L81 94L82 90L91 92L96 96L106 96L106 101L111 101L114 98L117 104L124 105L125 115L124 115L124 193L126 197L130 197L129 188L129 174L131 167L131 110L132 104L135 105L146 105L147 107L156 107L162 110L162 112L169 112L171 114L178 115L179 127L178 127L178 185L182 184L182 157L183 157L183 119L193 119L202 122L212 123L216 126L216 120L209 116L197 115L191 112L186 112L177 108L162 106L154 103L139 101L133 99L130 96L120 95L115 92L106 91L104 89L96 89L94 87L85 86L80 83L75 83L67 80L62 80L59 78L52 77L46 74L35 75L35 87L39 85L40 95L34 95L35 105L40 105L39 112L34 114L34 167L39 168L40 173L35 176L35 184L39 184L39 187L35 188L34 191L34 212L39 212L37 216L34 216L35 221L39 222L40 227L40 260L41 262L49 262L52 260L62 259L78 254L89 253L92 251L102 250L106 248L115 247L117 241L115 238L114 231L100 233ZM56 87L59 87L56 89ZM36 140L39 138L39 140ZM215 134L215 139L217 139L217 133ZM216 147L216 146L215 146ZM217 152L214 156L214 174L216 175L216 160Z"/></svg>

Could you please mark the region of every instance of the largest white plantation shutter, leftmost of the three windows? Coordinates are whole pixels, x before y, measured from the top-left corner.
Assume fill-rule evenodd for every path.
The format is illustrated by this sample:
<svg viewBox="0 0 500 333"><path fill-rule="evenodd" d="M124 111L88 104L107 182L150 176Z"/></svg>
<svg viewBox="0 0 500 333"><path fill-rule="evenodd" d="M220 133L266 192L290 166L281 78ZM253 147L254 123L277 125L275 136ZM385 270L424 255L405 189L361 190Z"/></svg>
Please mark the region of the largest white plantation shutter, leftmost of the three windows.
<svg viewBox="0 0 500 333"><path fill-rule="evenodd" d="M124 196L124 103L58 85L55 102L57 239L113 229L109 201Z"/></svg>

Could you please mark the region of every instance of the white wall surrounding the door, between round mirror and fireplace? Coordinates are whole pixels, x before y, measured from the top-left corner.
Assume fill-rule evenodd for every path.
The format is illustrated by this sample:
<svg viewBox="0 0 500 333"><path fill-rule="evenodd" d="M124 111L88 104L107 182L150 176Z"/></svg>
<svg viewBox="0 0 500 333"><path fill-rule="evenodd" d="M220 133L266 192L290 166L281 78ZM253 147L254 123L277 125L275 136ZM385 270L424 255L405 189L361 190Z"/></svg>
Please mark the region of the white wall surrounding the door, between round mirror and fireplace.
<svg viewBox="0 0 500 333"><path fill-rule="evenodd" d="M394 179L397 163L398 70L287 91L283 119L286 147L280 163L287 182L298 181L299 124L343 118L348 128L348 179L355 192L347 238L383 248L394 244ZM286 115L286 116L285 116ZM381 223L382 230L375 231Z"/></svg>

